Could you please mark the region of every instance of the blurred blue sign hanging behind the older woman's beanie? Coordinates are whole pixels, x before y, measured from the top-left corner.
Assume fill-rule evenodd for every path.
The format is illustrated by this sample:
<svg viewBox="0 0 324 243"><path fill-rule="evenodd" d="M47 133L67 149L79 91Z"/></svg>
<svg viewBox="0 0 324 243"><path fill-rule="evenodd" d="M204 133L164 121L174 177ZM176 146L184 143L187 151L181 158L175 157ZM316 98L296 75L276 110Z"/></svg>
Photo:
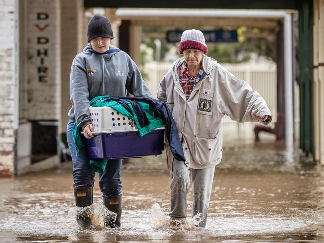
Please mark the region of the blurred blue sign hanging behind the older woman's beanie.
<svg viewBox="0 0 324 243"><path fill-rule="evenodd" d="M180 42L184 30L169 30L166 32L167 42ZM206 42L237 42L236 30L204 30L201 31Z"/></svg>

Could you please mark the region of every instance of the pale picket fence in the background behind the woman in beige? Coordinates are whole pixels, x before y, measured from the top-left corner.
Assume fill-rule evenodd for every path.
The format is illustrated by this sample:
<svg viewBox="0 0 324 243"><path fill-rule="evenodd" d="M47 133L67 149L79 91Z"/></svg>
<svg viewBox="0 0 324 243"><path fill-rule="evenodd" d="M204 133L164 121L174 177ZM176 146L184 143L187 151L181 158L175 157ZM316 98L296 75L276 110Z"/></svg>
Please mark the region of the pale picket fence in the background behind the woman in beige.
<svg viewBox="0 0 324 243"><path fill-rule="evenodd" d="M146 82L152 94L156 96L159 82L167 73L172 63L151 62L142 69L148 75ZM227 70L239 79L245 80L254 90L258 91L266 100L273 116L273 123L277 118L277 82L276 64L274 62L253 63L253 64L222 64ZM298 87L295 88L295 104L298 101ZM295 107L295 127L298 133L299 112ZM253 128L256 122L238 123L232 121L228 116L223 118L224 141L233 139L254 139ZM274 124L272 124L273 126ZM274 139L274 135L261 133L261 139Z"/></svg>

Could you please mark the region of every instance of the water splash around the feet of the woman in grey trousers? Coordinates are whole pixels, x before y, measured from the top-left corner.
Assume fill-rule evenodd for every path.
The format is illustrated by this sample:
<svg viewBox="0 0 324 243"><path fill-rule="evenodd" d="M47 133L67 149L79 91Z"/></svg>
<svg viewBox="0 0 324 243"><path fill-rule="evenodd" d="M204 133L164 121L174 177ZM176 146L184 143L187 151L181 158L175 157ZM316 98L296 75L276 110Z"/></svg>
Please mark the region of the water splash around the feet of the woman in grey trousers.
<svg viewBox="0 0 324 243"><path fill-rule="evenodd" d="M151 207L151 218L152 218L152 225L156 228L193 230L199 227L199 223L201 222L201 213L194 215L192 218L188 217L183 220L171 220L162 211L160 205L158 203L155 203Z"/></svg>

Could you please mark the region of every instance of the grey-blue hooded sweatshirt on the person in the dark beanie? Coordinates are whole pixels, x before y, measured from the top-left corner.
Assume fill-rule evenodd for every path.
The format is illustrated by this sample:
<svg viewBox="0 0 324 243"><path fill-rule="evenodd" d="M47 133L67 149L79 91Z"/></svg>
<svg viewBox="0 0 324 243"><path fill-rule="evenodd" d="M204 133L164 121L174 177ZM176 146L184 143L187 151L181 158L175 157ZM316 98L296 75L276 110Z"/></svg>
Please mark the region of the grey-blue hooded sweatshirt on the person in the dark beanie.
<svg viewBox="0 0 324 243"><path fill-rule="evenodd" d="M110 45L109 50L117 49ZM70 99L72 108L68 115L78 127L91 123L89 103L96 96L152 97L135 62L124 51L98 54L89 43L72 62L70 74Z"/></svg>

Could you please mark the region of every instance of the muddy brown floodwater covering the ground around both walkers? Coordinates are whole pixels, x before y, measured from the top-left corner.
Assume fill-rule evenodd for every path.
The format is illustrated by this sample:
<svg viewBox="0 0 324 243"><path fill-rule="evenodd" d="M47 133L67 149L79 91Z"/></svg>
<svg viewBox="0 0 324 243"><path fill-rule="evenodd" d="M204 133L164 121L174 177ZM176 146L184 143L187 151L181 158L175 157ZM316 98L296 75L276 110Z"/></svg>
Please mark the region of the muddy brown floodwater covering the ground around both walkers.
<svg viewBox="0 0 324 243"><path fill-rule="evenodd" d="M180 228L169 225L164 159L163 154L124 161L120 230L77 229L69 162L0 179L0 242L324 242L324 173L298 149L273 142L225 143L205 229L194 227L193 220ZM97 180L94 202L100 211ZM191 215L192 192L188 204Z"/></svg>

